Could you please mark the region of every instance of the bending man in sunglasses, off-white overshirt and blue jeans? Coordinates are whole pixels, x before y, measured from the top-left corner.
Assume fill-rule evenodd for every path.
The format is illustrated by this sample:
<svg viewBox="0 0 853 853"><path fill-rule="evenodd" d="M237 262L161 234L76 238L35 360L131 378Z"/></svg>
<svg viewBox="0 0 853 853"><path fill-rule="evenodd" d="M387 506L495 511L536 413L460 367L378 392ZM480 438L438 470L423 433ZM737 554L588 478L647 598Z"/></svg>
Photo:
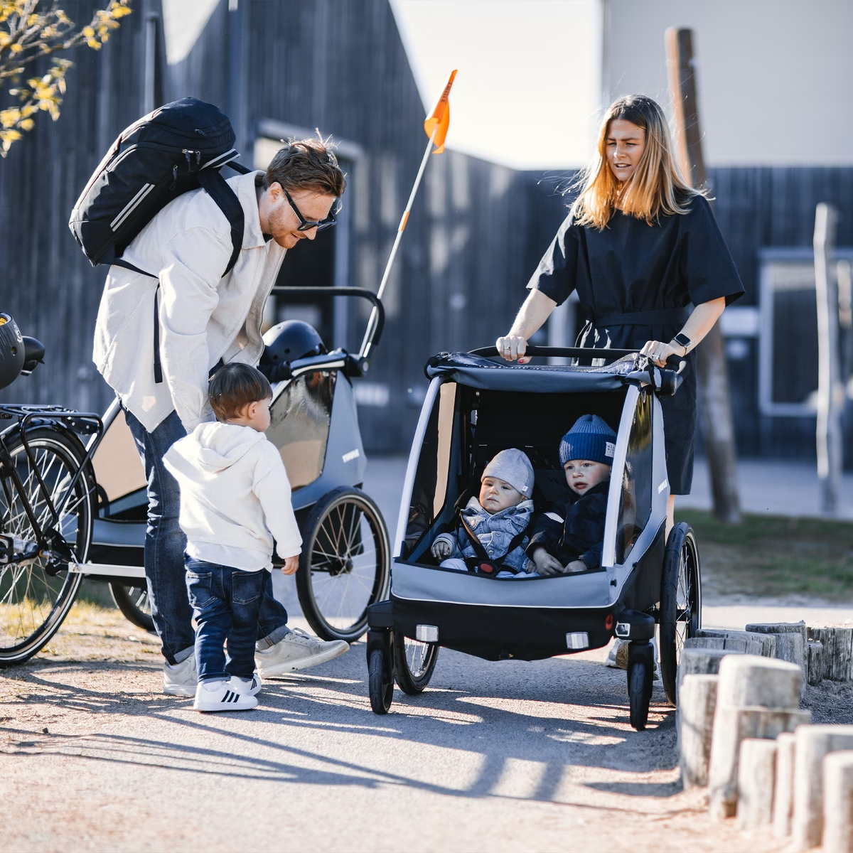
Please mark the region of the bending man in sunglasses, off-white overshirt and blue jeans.
<svg viewBox="0 0 853 853"><path fill-rule="evenodd" d="M264 173L229 180L246 220L241 252L227 218L203 189L163 208L122 259L140 275L110 267L95 329L93 360L121 397L148 479L145 574L154 627L165 657L165 693L192 696L197 678L192 610L183 568L185 538L177 524L178 489L163 456L202 421L214 420L207 382L218 363L258 363L261 319L287 249L313 240L334 221L345 177L320 139L291 142ZM156 325L155 325L156 322ZM155 352L162 366L155 374ZM344 641L322 642L287 628L267 573L258 617L258 670L276 676L344 653Z"/></svg>

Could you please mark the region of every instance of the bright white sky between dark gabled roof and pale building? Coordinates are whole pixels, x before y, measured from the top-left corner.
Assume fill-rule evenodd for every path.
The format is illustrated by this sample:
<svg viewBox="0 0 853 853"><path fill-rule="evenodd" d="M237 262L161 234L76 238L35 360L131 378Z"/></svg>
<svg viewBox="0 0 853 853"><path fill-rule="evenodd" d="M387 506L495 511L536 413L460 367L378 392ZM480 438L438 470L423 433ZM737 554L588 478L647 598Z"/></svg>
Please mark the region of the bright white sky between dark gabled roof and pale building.
<svg viewBox="0 0 853 853"><path fill-rule="evenodd" d="M585 165L601 115L600 0L391 0L425 113L450 93L447 148L516 169Z"/></svg>

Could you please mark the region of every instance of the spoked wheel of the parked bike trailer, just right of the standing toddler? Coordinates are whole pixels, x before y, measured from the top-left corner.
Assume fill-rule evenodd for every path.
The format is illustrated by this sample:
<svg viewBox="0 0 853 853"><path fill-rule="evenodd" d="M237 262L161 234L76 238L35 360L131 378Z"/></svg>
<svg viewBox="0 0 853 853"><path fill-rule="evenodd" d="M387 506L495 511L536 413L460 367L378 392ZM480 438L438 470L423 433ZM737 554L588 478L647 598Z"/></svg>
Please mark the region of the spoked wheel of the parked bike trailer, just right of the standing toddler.
<svg viewBox="0 0 853 853"><path fill-rule="evenodd" d="M391 572L379 508L362 490L330 491L311 510L303 540L296 591L308 624L323 640L356 641Z"/></svg>

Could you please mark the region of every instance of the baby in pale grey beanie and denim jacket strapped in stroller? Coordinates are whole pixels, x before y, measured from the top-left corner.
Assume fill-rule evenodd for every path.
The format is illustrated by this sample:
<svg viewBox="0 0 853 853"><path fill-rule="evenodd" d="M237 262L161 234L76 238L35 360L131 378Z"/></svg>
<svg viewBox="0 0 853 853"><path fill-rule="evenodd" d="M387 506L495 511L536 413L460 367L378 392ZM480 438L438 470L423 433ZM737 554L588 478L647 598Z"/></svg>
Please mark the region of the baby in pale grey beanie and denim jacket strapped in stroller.
<svg viewBox="0 0 853 853"><path fill-rule="evenodd" d="M442 561L442 568L531 577L536 565L525 553L528 537L522 534L531 522L533 481L533 466L521 450L496 454L480 478L479 500L472 497L461 510L456 532L442 533L432 543L432 556Z"/></svg>

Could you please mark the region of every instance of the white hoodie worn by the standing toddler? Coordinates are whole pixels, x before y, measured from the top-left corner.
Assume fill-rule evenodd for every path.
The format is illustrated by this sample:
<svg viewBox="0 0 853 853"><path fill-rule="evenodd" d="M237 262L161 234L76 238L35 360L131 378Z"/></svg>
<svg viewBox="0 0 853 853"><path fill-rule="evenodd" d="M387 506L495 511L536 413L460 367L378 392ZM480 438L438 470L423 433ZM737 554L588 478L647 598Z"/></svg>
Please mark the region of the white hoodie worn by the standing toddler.
<svg viewBox="0 0 853 853"><path fill-rule="evenodd" d="M263 432L203 423L163 461L181 488L189 556L259 572L272 568L273 537L282 559L302 550L287 472Z"/></svg>

